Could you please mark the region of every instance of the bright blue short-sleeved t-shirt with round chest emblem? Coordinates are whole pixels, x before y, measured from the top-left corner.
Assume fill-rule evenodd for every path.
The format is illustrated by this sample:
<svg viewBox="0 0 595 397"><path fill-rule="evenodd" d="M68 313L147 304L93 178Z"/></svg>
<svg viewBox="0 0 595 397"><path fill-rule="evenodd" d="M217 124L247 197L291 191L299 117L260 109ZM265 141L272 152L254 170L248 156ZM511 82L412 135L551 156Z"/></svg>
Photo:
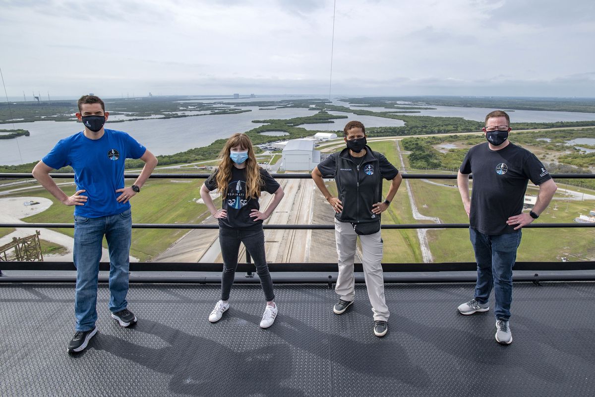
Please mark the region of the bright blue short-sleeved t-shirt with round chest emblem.
<svg viewBox="0 0 595 397"><path fill-rule="evenodd" d="M42 161L55 169L73 167L77 190L86 190L81 195L87 196L84 205L74 207L74 215L99 218L130 208L130 202L117 201L121 193L115 190L124 187L124 160L140 158L145 151L145 146L127 133L106 129L96 140L83 132L64 138Z"/></svg>

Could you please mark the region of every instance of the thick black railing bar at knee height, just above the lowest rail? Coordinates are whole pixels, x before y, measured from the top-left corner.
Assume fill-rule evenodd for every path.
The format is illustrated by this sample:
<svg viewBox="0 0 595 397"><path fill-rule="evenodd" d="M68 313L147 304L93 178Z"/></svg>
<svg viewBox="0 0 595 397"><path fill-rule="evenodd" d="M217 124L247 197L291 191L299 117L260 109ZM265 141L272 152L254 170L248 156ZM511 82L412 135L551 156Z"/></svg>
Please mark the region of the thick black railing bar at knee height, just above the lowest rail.
<svg viewBox="0 0 595 397"><path fill-rule="evenodd" d="M73 262L25 262L11 261L0 262L2 270L27 270L27 271L75 271ZM475 271L475 262L436 262L436 263L383 263L382 268L386 272L431 272L440 271ZM337 271L337 263L312 263L312 262L289 262L269 263L269 271L275 272L333 272ZM516 262L514 270L530 271L581 271L595 270L594 261L583 262ZM99 263L100 271L109 271L109 262ZM131 262L130 271L189 271L189 272L221 272L222 263L207 262ZM236 271L255 271L253 264L239 263ZM362 264L356 263L354 271L361 272Z"/></svg>

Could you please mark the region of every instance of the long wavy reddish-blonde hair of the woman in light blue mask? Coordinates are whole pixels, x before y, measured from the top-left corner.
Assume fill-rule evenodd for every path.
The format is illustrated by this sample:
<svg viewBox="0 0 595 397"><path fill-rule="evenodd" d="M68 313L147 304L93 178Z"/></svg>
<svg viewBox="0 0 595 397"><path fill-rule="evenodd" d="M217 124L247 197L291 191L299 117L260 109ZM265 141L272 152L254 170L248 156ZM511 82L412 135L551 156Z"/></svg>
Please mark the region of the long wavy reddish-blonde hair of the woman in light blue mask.
<svg viewBox="0 0 595 397"><path fill-rule="evenodd" d="M259 198L262 185L260 166L256 162L252 141L246 134L237 133L230 136L223 149L221 149L221 153L219 154L221 161L217 168L217 190L223 197L227 195L227 186L231 182L231 167L234 166L229 154L231 148L234 146L248 148L248 159L246 159L246 197Z"/></svg>

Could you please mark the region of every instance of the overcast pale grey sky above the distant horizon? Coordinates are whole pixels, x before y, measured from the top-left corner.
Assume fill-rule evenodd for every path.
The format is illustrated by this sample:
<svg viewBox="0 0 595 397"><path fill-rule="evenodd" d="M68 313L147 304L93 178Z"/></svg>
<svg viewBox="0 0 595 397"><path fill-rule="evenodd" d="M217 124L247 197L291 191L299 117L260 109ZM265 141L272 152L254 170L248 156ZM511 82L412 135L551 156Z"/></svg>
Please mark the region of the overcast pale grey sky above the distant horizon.
<svg viewBox="0 0 595 397"><path fill-rule="evenodd" d="M332 95L595 96L593 0L337 0ZM333 0L0 0L8 96L328 96Z"/></svg>

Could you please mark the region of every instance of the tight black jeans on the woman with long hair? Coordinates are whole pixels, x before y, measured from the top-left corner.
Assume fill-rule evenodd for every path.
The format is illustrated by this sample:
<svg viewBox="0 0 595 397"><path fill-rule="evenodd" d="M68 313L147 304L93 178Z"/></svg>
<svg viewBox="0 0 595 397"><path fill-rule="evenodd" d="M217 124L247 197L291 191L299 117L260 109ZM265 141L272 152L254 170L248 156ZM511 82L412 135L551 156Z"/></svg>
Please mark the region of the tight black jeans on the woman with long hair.
<svg viewBox="0 0 595 397"><path fill-rule="evenodd" d="M268 273L267 259L264 251L264 232L262 226L256 230L230 229L219 227L219 243L223 257L223 274L221 274L221 300L227 301L236 275L237 254L240 251L240 242L252 257L256 265L256 273L261 279L262 290L268 301L275 299L273 280Z"/></svg>

